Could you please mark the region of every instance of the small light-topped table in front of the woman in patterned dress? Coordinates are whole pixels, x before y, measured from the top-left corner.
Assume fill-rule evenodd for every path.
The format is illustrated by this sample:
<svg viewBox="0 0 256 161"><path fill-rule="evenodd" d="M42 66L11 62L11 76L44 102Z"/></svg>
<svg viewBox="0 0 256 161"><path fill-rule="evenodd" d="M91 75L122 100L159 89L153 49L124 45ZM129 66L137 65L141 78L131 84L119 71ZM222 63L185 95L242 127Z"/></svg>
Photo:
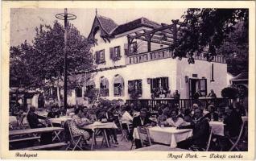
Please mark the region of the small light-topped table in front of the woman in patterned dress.
<svg viewBox="0 0 256 161"><path fill-rule="evenodd" d="M95 140L95 133L96 130L101 130L103 132L103 139L105 139L105 142L107 144L107 147L110 147L109 140L106 134L106 129L118 129L118 126L114 122L94 122L93 124L86 125L82 127L82 129L90 129L93 130L93 138L92 138L92 145L91 150L93 150L93 141Z"/></svg>

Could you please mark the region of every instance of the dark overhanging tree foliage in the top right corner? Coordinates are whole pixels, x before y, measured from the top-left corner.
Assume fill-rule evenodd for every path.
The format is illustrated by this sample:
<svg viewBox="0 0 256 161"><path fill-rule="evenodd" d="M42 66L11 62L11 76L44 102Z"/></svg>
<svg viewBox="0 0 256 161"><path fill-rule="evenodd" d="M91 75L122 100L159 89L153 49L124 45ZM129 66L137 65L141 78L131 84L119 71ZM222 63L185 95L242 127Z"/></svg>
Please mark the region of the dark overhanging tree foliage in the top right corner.
<svg viewBox="0 0 256 161"><path fill-rule="evenodd" d="M193 64L192 56L204 52L207 60L213 60L239 22L243 22L239 43L248 45L248 15L248 9L188 9L182 16L186 28L176 42L175 57L188 54L188 63Z"/></svg>

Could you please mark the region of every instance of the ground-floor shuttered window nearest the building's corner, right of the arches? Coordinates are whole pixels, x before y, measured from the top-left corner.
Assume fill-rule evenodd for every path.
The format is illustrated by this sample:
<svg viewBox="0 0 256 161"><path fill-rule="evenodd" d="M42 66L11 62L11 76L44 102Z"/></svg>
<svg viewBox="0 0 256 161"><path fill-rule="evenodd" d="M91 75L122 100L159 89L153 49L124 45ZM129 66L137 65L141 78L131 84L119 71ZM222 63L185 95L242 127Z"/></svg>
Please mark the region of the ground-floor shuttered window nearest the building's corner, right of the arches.
<svg viewBox="0 0 256 161"><path fill-rule="evenodd" d="M163 97L167 95L169 90L169 78L168 77L157 77L151 79L151 93L155 97Z"/></svg>

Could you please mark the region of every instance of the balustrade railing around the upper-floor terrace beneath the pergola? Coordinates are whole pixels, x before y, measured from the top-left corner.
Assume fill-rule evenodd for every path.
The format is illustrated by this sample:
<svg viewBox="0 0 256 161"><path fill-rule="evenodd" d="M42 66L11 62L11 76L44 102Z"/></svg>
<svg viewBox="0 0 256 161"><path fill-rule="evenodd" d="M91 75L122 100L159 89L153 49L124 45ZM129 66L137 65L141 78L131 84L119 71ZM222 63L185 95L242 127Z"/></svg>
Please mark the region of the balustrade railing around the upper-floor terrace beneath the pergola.
<svg viewBox="0 0 256 161"><path fill-rule="evenodd" d="M142 52L142 53L134 54L132 56L128 56L126 64L138 64L138 63L143 63L143 62L153 61L153 60L163 60L166 58L171 58L172 56L173 56L173 52L169 51L169 47L165 47L152 52ZM200 54L200 56L194 55L194 59L207 61L207 59L203 56L203 54ZM219 56L219 55L214 56L212 62L222 63L222 64L226 63L225 57Z"/></svg>

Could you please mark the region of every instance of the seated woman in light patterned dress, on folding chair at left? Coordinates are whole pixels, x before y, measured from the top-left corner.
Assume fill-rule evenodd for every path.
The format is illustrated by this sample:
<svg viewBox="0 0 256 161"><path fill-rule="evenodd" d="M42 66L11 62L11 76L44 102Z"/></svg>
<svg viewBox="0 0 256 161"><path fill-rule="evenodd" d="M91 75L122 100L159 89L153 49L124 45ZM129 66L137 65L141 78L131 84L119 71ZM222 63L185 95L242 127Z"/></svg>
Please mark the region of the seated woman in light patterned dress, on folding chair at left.
<svg viewBox="0 0 256 161"><path fill-rule="evenodd" d="M70 123L70 129L72 134L82 134L85 140L90 138L88 131L81 129L81 127L91 124L89 119L85 119L85 112L83 108L77 108L75 110L75 115L72 116L72 121Z"/></svg>

